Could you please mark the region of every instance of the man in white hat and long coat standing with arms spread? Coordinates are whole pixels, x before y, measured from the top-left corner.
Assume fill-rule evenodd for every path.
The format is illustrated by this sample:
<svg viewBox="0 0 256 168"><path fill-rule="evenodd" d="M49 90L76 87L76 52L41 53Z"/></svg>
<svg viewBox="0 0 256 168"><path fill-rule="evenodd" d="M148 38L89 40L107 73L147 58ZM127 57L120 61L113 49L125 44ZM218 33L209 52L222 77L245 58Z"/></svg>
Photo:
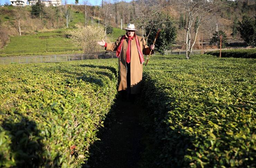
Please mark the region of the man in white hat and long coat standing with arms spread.
<svg viewBox="0 0 256 168"><path fill-rule="evenodd" d="M143 71L143 54L149 55L150 49L154 50L155 46L146 45L146 41L137 36L135 26L128 24L126 34L120 36L115 43L107 44L104 40L98 44L104 46L106 50L117 51L119 62L119 80L118 91L127 91L127 94L134 97L140 92L140 85ZM152 51L153 53L153 51Z"/></svg>

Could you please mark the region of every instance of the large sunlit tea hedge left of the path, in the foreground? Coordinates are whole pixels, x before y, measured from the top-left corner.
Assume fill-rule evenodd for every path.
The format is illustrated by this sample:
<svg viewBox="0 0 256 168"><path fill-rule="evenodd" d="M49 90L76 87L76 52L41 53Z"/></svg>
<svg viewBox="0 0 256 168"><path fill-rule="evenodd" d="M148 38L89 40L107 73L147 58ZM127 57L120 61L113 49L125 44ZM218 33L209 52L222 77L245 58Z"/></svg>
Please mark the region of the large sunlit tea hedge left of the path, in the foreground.
<svg viewBox="0 0 256 168"><path fill-rule="evenodd" d="M112 62L1 66L0 167L85 163L117 93Z"/></svg>

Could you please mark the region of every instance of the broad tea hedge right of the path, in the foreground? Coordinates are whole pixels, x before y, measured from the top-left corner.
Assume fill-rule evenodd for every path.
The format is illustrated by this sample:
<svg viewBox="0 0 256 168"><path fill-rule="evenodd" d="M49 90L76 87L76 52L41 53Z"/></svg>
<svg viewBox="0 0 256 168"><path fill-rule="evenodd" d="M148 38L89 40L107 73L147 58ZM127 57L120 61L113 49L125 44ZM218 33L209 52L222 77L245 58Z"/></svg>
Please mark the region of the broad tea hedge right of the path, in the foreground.
<svg viewBox="0 0 256 168"><path fill-rule="evenodd" d="M147 167L255 167L255 65L209 55L150 59Z"/></svg>

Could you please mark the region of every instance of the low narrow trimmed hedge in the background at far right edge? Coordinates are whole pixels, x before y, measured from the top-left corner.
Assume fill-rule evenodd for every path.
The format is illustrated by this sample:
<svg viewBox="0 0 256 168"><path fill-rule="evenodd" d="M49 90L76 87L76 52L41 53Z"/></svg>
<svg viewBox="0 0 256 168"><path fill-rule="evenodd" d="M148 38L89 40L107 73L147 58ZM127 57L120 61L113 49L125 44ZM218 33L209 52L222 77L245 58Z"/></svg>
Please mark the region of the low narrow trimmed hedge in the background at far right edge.
<svg viewBox="0 0 256 168"><path fill-rule="evenodd" d="M220 51L206 52L205 54L219 56ZM256 48L221 50L221 57L256 58Z"/></svg>

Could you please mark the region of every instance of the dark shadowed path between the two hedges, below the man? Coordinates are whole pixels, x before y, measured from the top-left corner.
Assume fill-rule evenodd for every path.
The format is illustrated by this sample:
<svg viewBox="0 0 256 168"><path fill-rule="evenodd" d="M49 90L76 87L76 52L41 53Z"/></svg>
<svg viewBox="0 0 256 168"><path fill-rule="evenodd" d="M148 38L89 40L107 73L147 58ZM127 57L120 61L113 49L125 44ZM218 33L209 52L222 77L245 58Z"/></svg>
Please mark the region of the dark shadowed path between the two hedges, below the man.
<svg viewBox="0 0 256 168"><path fill-rule="evenodd" d="M90 167L138 167L140 153L144 150L144 129L139 123L141 110L139 103L116 100L104 128L98 133L101 141L89 149L92 153L88 161Z"/></svg>

